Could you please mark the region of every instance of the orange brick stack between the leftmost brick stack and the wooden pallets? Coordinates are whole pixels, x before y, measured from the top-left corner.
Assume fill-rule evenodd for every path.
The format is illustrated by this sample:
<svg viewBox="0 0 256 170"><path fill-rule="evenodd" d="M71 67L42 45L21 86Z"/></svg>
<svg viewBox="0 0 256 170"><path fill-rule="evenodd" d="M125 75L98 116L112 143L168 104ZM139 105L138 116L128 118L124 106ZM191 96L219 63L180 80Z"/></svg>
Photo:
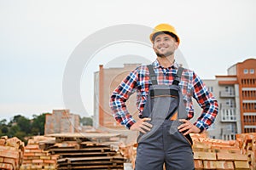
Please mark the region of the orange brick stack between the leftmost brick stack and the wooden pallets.
<svg viewBox="0 0 256 170"><path fill-rule="evenodd" d="M50 138L52 139L52 138ZM39 143L49 140L44 136L34 136L28 140L25 146L23 162L20 170L31 170L31 169L55 169L56 167L56 155L49 155L48 151L41 150Z"/></svg>

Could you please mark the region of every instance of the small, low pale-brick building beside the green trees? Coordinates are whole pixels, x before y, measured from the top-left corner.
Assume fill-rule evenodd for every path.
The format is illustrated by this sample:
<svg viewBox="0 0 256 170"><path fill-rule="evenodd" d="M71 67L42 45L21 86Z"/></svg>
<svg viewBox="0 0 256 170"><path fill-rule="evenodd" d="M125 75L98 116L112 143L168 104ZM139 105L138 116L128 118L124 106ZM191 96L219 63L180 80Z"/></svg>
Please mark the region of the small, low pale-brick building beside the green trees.
<svg viewBox="0 0 256 170"><path fill-rule="evenodd" d="M69 110L53 110L52 114L45 115L44 134L78 132L79 115Z"/></svg>

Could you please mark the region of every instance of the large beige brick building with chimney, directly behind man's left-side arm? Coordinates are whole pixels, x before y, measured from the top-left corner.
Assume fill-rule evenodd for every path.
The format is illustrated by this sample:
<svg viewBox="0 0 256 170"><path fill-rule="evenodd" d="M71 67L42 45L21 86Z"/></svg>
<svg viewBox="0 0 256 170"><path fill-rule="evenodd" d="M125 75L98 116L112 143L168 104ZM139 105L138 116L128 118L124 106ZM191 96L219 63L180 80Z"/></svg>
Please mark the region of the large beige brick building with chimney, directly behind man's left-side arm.
<svg viewBox="0 0 256 170"><path fill-rule="evenodd" d="M125 64L120 68L103 68L99 65L99 71L95 72L95 98L94 98L94 119L93 127L108 129L125 129L119 125L113 118L109 108L110 95L113 93L119 83L140 64ZM131 115L137 119L136 95L132 94L127 101L127 108Z"/></svg>

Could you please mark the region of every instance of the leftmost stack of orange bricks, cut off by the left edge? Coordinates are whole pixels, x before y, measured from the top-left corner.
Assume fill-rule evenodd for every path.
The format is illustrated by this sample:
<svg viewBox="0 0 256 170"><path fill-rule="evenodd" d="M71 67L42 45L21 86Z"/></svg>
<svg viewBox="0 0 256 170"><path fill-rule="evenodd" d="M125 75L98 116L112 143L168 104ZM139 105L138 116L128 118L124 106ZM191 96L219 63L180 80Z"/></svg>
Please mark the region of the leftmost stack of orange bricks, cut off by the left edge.
<svg viewBox="0 0 256 170"><path fill-rule="evenodd" d="M16 137L8 139L3 136L0 139L0 169L20 169L24 143Z"/></svg>

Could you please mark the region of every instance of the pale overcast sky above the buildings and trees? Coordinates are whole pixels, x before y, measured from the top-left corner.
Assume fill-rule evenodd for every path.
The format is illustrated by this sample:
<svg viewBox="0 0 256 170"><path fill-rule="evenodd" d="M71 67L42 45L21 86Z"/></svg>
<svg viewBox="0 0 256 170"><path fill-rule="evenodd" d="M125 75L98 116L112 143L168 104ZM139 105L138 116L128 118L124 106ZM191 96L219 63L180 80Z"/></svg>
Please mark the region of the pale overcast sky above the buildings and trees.
<svg viewBox="0 0 256 170"><path fill-rule="evenodd" d="M84 111L67 108L90 116L98 65L155 59L147 39L150 32L141 31L143 26L175 26L189 69L201 79L226 75L231 65L256 58L255 7L254 0L0 0L0 120L67 108L63 79L68 65L79 48L96 47L93 55L84 54L88 61L78 76ZM129 26L141 31L131 37L145 36L148 42L119 37L118 42L100 45L120 33L130 36L125 31ZM116 33L98 36L108 28Z"/></svg>

